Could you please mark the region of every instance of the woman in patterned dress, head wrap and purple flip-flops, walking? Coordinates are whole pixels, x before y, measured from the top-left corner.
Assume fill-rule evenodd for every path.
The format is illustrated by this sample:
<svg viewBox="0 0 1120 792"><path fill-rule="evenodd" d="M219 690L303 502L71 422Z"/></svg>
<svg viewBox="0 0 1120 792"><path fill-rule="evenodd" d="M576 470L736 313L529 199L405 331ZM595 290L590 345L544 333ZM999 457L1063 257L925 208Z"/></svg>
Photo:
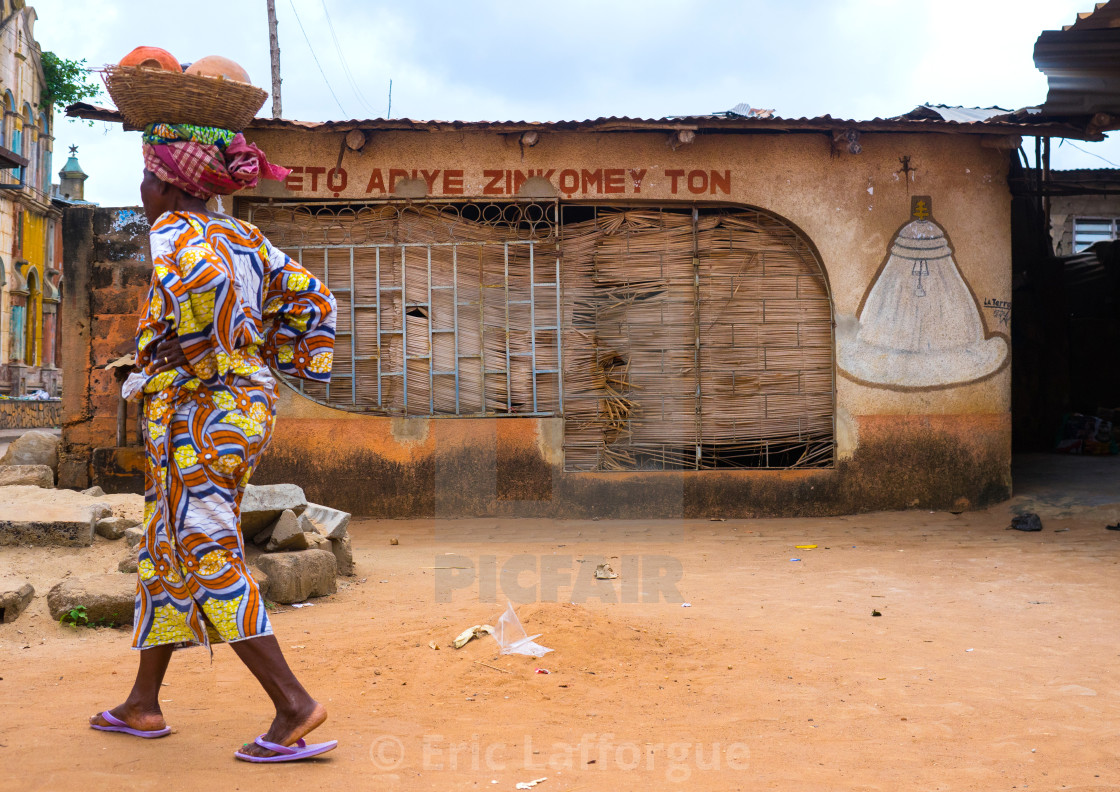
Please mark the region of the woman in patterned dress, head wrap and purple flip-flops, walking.
<svg viewBox="0 0 1120 792"><path fill-rule="evenodd" d="M169 734L159 689L172 651L225 641L276 706L269 729L235 755L315 756L337 743L304 740L327 712L272 635L245 565L241 499L276 419L269 367L329 381L335 300L256 227L207 209L215 194L287 176L240 132L150 124L143 159L153 272L137 330L140 371L124 385L141 403L148 457L132 635L140 669L128 699L90 725Z"/></svg>

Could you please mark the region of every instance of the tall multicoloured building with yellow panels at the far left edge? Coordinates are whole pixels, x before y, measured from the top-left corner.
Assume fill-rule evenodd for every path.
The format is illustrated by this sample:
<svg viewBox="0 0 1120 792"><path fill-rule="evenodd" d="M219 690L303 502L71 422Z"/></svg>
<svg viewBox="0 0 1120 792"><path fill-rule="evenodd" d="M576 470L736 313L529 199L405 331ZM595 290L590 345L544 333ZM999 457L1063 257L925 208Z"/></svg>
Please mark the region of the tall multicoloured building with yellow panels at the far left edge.
<svg viewBox="0 0 1120 792"><path fill-rule="evenodd" d="M62 211L52 203L52 109L35 9L0 0L0 393L57 395Z"/></svg>

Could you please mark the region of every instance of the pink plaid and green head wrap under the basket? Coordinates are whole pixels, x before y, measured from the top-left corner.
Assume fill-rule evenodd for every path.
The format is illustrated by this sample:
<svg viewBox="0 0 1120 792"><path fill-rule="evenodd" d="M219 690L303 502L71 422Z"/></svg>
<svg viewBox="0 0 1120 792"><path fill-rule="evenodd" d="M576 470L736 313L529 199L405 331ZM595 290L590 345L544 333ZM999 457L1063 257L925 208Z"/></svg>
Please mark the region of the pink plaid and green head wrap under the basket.
<svg viewBox="0 0 1120 792"><path fill-rule="evenodd" d="M270 164L241 132L186 123L144 129L143 167L203 201L255 187L262 178L279 181L291 173Z"/></svg>

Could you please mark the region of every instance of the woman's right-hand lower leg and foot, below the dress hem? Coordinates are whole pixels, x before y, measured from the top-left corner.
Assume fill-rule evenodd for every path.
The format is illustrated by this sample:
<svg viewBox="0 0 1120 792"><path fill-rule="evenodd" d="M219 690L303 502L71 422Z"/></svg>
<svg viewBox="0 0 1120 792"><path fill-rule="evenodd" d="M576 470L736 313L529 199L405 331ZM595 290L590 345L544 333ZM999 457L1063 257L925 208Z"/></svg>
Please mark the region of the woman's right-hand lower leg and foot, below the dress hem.
<svg viewBox="0 0 1120 792"><path fill-rule="evenodd" d="M288 668L274 635L235 641L230 645L256 677L277 708L277 716L264 739L279 745L292 745L327 719L326 708L308 695ZM253 744L242 748L242 753L251 756L272 755L271 751Z"/></svg>

